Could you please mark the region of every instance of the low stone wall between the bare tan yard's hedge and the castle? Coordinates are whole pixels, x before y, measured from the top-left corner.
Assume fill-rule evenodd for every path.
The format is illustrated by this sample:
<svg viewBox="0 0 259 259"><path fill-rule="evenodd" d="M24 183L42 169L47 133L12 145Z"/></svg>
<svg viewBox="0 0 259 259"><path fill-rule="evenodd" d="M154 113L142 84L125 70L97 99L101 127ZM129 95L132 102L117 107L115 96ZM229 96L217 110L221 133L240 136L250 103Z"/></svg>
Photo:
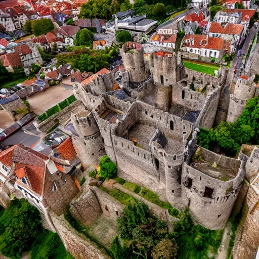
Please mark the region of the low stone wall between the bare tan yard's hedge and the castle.
<svg viewBox="0 0 259 259"><path fill-rule="evenodd" d="M50 128L57 123L57 121L59 121L59 124L63 125L70 119L72 113L77 113L82 109L84 109L83 103L77 100L69 106L65 107L63 110L53 114L46 120L42 122L39 120L35 120L33 124L35 125L38 131L47 133L48 130L50 130Z"/></svg>

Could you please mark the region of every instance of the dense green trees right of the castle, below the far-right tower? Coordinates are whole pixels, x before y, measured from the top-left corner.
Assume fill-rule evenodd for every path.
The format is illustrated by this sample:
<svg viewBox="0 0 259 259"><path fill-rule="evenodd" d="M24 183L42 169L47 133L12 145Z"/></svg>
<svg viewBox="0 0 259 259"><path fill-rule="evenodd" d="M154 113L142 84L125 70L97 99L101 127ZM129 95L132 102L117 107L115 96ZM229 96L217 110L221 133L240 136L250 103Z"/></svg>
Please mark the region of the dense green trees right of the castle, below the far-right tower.
<svg viewBox="0 0 259 259"><path fill-rule="evenodd" d="M213 152L235 156L242 144L259 143L259 97L247 101L244 111L235 123L221 122L207 130L200 128L198 144Z"/></svg>

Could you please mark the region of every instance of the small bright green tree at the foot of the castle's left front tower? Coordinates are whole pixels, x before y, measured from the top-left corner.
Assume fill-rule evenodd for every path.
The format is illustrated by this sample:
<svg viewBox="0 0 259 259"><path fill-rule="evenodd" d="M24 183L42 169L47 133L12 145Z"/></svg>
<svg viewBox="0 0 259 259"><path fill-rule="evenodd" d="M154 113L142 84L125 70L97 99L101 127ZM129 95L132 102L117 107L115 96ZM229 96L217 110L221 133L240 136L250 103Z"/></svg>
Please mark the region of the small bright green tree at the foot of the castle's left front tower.
<svg viewBox="0 0 259 259"><path fill-rule="evenodd" d="M117 166L107 155L99 158L99 165L100 171L98 175L100 180L110 179L117 176Z"/></svg>

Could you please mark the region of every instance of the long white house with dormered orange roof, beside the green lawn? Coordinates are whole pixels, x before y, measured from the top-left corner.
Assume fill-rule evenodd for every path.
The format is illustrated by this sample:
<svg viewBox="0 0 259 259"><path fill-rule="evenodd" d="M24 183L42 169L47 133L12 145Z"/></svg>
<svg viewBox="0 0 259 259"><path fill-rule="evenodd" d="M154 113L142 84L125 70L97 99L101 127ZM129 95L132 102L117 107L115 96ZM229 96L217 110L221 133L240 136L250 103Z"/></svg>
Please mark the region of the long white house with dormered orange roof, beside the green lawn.
<svg viewBox="0 0 259 259"><path fill-rule="evenodd" d="M223 38L207 37L206 35L185 35L182 42L184 52L194 54L194 57L216 58L221 61L223 54L229 52L225 50L225 40Z"/></svg>

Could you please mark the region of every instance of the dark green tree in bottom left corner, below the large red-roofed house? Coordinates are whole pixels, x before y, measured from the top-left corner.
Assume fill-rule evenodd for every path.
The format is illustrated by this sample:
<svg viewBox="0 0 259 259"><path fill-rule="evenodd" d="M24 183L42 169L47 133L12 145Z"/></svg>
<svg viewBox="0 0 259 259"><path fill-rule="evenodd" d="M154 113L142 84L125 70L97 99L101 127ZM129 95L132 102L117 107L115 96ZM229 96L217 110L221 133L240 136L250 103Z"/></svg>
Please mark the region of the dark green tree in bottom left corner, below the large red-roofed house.
<svg viewBox="0 0 259 259"><path fill-rule="evenodd" d="M27 200L13 200L0 218L0 251L20 258L29 251L35 238L41 233L41 218L37 208Z"/></svg>

